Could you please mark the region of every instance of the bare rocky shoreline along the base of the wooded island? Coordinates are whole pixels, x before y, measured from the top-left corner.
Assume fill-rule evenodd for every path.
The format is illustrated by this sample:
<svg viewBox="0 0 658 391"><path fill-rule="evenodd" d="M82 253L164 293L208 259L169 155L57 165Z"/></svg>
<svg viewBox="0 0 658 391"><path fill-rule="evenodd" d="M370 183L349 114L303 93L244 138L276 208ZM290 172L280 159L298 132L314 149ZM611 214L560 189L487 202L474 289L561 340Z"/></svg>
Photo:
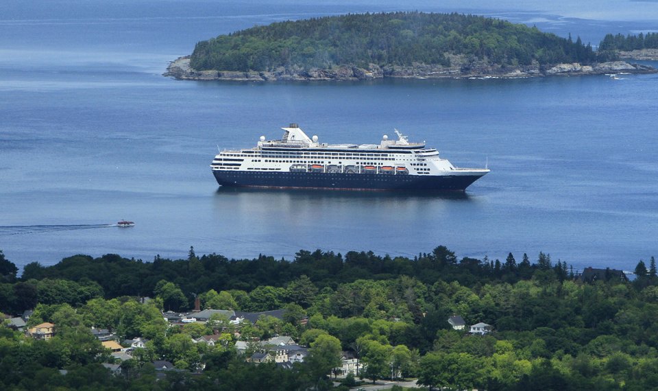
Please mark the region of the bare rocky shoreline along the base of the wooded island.
<svg viewBox="0 0 658 391"><path fill-rule="evenodd" d="M650 56L646 53L645 56ZM629 55L630 56L630 55ZM637 58L643 60L658 60L658 50L653 53L655 58ZM626 57L624 57L626 58ZM460 56L450 58L451 67L441 65L415 63L410 67L386 66L369 64L367 68L334 67L332 69L284 68L280 67L270 72L239 72L239 71L196 71L190 67L190 56L184 56L172 61L167 67L165 76L178 80L223 80L237 82L269 82L269 81L330 81L330 80L374 80L381 78L535 78L544 76L572 75L603 75L608 73L658 73L658 69L642 64L631 64L626 61L602 62L595 65L558 64L555 67L544 68L539 64L520 67L496 67L478 60L467 60Z"/></svg>

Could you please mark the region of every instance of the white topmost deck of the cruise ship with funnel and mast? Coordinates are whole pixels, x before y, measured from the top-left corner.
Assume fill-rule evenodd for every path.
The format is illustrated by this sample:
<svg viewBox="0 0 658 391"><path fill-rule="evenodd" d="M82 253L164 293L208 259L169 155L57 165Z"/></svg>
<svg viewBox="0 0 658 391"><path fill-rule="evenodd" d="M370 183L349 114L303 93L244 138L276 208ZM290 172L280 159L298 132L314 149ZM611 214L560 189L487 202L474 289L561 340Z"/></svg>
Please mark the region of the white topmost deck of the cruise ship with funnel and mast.
<svg viewBox="0 0 658 391"><path fill-rule="evenodd" d="M313 150L351 150L351 151L370 151L374 150L382 152L382 150L424 150L425 143L409 143L409 140L402 133L395 129L395 134L398 135L397 140L389 140L388 136L384 135L379 144L328 144L319 143L318 137L308 137L304 131L297 126L296 123L291 123L287 128L281 128L283 137L278 140L266 140L265 136L260 137L256 149L260 150L273 150L273 149L313 149ZM436 150L424 150L427 152L435 152Z"/></svg>

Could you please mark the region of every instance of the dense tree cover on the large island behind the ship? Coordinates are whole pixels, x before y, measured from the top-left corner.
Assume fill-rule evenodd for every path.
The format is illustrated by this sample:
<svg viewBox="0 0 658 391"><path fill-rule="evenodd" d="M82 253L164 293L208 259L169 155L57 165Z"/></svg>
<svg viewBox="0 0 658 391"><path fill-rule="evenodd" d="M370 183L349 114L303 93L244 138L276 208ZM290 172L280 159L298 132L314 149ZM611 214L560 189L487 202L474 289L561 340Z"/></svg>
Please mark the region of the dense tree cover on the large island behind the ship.
<svg viewBox="0 0 658 391"><path fill-rule="evenodd" d="M277 67L331 69L337 65L450 66L450 56L502 66L596 62L592 47L537 28L463 14L391 12L348 14L252 27L197 43L199 71L273 71Z"/></svg>

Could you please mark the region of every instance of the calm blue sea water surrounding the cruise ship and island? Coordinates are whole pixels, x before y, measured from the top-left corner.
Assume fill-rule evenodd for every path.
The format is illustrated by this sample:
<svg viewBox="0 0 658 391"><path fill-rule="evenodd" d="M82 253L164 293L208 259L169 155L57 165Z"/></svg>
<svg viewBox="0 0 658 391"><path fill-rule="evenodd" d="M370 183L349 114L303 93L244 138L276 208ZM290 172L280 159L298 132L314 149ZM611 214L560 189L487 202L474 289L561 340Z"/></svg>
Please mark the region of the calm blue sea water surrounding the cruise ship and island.
<svg viewBox="0 0 658 391"><path fill-rule="evenodd" d="M217 34L393 9L9 1L0 15L0 249L19 267L77 253L178 258L190 246L290 259L316 248L413 257L445 245L458 257L544 251L575 268L624 270L658 254L658 75L282 84L161 75ZM503 14L592 43L658 26ZM492 171L465 196L218 189L209 168L218 147L279 137L290 122L329 143L376 143L398 128L455 165ZM121 219L136 226L112 226Z"/></svg>

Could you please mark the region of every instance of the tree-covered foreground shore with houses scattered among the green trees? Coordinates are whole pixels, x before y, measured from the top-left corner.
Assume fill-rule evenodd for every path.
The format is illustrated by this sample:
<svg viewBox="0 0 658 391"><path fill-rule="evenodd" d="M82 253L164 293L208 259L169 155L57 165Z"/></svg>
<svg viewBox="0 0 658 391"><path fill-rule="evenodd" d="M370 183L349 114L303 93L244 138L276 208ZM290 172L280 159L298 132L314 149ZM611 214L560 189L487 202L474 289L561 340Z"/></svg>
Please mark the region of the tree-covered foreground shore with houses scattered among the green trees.
<svg viewBox="0 0 658 391"><path fill-rule="evenodd" d="M574 272L543 252L458 259L438 246L413 259L81 254L29 263L19 278L0 251L0 388L344 391L417 379L441 390L648 390L655 259L635 274Z"/></svg>

